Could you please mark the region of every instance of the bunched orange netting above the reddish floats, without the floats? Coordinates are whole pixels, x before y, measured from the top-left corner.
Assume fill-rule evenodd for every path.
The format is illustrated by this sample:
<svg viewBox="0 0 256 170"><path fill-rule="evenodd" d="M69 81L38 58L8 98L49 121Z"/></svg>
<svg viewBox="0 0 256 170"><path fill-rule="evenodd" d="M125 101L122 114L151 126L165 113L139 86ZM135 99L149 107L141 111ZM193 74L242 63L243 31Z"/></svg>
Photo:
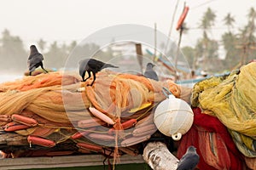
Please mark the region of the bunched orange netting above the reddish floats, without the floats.
<svg viewBox="0 0 256 170"><path fill-rule="evenodd" d="M0 115L19 114L26 109L52 122L70 122L69 116L82 116L92 103L99 111L119 117L144 103L165 99L162 87L169 88L176 97L181 95L181 88L172 81L155 82L130 74L102 71L93 87L86 86L90 80L79 82L76 76L54 72L4 82L0 84ZM85 92L77 91L81 87ZM67 112L72 114L67 116Z"/></svg>

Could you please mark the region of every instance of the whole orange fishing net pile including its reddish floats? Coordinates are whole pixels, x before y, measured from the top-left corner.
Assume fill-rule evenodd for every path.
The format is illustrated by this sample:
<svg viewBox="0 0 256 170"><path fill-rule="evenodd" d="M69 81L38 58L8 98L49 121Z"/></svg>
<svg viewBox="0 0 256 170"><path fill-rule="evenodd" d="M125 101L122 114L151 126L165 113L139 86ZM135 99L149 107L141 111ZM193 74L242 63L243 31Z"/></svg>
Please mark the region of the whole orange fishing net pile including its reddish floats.
<svg viewBox="0 0 256 170"><path fill-rule="evenodd" d="M82 153L136 155L132 146L156 131L151 112L166 99L162 88L183 96L170 80L112 71L96 77L92 87L87 86L92 79L80 82L78 75L61 72L0 84L0 125L25 136L31 147L50 148L71 140Z"/></svg>

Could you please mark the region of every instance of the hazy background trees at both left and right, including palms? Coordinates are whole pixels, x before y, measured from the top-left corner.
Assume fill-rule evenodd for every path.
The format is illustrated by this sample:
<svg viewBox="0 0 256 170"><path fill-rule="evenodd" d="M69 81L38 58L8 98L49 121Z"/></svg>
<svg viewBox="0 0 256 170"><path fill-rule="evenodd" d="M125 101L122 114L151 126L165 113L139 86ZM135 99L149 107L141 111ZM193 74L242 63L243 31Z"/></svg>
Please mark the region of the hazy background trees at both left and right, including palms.
<svg viewBox="0 0 256 170"><path fill-rule="evenodd" d="M214 31L216 14L212 8L202 15L198 29L201 29L201 38L197 39L195 47L185 46L182 52L187 59L191 69L201 69L209 72L231 71L241 65L246 64L252 59L256 59L256 37L255 37L255 20L256 11L250 8L247 14L246 26L235 28L236 19L232 14L227 14L223 18L223 24L227 27L222 34L220 40L211 37ZM189 26L183 26L184 34L189 31ZM76 54L80 56L91 51L91 49L100 48L95 43L79 45L76 41L59 44L52 42L49 48L46 48L47 42L39 39L39 52L44 55L44 65L47 68L61 69L65 66L65 62L73 48L76 48ZM220 59L218 54L220 47L224 48L224 59ZM20 37L13 36L9 30L2 32L0 37L0 70L3 71L26 71L26 60L29 55L29 47L24 48L24 44ZM113 49L108 48L100 53L105 59L113 57ZM170 52L171 54L171 52Z"/></svg>

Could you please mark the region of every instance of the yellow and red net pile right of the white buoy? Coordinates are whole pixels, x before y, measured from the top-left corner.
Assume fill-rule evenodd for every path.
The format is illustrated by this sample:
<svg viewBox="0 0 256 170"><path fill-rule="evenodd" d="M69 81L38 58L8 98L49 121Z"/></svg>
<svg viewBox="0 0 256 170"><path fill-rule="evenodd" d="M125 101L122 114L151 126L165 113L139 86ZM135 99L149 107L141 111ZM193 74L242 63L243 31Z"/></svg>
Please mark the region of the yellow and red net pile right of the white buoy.
<svg viewBox="0 0 256 170"><path fill-rule="evenodd" d="M256 169L256 63L229 76L195 84L194 124L183 136L177 156L195 145L200 169Z"/></svg>

